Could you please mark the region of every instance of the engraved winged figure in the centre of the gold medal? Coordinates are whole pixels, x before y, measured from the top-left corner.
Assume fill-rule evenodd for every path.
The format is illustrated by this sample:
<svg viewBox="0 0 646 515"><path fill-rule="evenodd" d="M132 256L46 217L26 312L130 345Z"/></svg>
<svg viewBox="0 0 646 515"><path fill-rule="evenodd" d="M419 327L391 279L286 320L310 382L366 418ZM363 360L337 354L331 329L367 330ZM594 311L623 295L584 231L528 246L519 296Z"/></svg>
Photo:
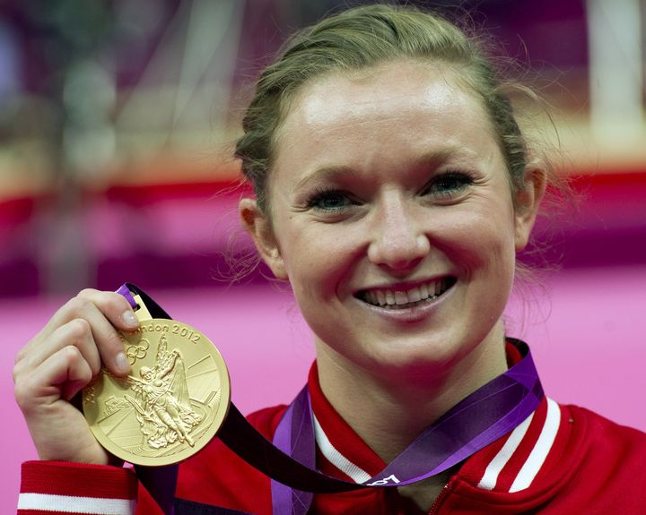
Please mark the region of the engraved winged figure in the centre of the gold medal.
<svg viewBox="0 0 646 515"><path fill-rule="evenodd" d="M125 379L136 398L125 395L124 399L135 408L147 444L160 449L179 440L194 447L190 432L199 425L202 416L191 407L179 349L169 352L168 342L162 334L154 367L142 366L139 375L142 379L133 376Z"/></svg>

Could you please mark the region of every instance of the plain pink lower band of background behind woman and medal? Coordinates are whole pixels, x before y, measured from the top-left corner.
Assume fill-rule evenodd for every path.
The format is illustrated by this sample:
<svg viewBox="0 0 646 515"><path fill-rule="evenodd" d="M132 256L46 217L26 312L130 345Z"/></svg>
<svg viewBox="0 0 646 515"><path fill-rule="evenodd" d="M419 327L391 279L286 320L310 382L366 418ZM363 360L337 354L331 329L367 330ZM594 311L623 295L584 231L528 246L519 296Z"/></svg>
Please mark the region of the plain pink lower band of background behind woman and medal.
<svg viewBox="0 0 646 515"><path fill-rule="evenodd" d="M646 266L567 270L546 279L545 291L534 288L511 303L508 333L530 343L551 397L646 430L644 292ZM304 382L311 337L290 293L266 286L150 293L213 339L243 412L288 402ZM15 510L20 463L36 458L13 402L13 356L63 300L0 300L1 513Z"/></svg>

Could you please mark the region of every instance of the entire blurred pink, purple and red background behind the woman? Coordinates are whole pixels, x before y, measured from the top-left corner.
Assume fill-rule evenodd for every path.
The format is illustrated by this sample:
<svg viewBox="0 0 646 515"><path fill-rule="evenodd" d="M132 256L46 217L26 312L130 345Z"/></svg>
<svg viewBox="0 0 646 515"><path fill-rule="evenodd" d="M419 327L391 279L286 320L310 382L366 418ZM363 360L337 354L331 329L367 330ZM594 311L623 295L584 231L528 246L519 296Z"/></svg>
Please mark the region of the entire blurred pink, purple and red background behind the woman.
<svg viewBox="0 0 646 515"><path fill-rule="evenodd" d="M229 258L250 251L232 148L286 35L360 3L0 0L0 511L35 457L13 356L82 288L134 282L209 335L243 411L292 399L311 337L262 270L232 284ZM526 128L577 200L546 205L523 259L552 266L519 288L508 332L531 343L554 399L646 430L646 2L407 4L489 33L550 105Z"/></svg>

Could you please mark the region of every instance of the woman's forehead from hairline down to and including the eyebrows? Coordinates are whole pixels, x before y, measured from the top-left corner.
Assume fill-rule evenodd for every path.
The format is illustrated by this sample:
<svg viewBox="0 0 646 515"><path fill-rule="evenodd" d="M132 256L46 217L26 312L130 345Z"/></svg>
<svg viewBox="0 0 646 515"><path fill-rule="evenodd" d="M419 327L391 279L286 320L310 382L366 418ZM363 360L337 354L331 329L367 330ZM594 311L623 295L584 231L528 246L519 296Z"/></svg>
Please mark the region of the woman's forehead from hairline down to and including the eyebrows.
<svg viewBox="0 0 646 515"><path fill-rule="evenodd" d="M408 60L305 84L276 136L273 182L320 167L376 171L434 153L501 156L484 107L457 72Z"/></svg>

